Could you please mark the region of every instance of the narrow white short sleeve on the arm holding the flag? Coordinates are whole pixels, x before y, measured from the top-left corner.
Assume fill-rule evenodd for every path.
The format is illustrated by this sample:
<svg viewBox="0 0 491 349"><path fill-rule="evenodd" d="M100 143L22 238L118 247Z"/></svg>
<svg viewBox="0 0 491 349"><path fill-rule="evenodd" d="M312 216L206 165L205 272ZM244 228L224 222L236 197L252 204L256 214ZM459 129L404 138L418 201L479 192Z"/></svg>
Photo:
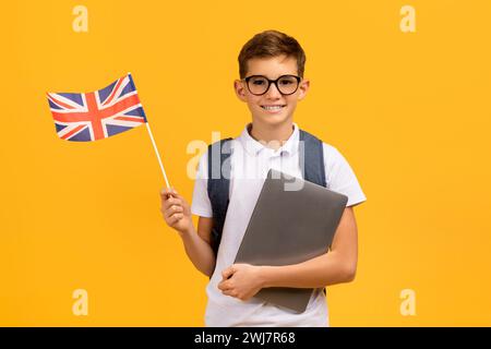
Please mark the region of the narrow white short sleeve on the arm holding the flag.
<svg viewBox="0 0 491 349"><path fill-rule="evenodd" d="M213 217L212 203L208 197L208 154L203 153L197 164L196 179L194 181L191 213L201 217Z"/></svg>

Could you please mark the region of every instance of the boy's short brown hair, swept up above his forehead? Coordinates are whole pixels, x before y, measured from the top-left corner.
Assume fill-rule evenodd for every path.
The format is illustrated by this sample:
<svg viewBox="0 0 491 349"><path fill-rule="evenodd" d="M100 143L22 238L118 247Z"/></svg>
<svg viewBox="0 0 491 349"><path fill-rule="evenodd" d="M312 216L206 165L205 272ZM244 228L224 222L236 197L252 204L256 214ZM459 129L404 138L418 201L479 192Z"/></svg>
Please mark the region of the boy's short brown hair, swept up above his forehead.
<svg viewBox="0 0 491 349"><path fill-rule="evenodd" d="M286 55L297 59L298 75L303 77L306 69L306 52L298 41L277 31L265 31L254 35L242 47L239 53L239 74L244 79L248 72L248 61L253 58L277 57Z"/></svg>

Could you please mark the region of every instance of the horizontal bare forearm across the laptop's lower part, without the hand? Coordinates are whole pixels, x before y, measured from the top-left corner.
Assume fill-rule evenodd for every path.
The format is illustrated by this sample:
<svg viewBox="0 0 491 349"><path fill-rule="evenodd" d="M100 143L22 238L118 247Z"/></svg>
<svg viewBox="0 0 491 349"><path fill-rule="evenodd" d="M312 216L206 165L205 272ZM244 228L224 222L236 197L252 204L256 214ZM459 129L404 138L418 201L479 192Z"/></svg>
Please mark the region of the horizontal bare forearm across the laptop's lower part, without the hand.
<svg viewBox="0 0 491 349"><path fill-rule="evenodd" d="M315 258L286 266L263 266L264 287L322 288L352 281L356 262L330 252Z"/></svg>

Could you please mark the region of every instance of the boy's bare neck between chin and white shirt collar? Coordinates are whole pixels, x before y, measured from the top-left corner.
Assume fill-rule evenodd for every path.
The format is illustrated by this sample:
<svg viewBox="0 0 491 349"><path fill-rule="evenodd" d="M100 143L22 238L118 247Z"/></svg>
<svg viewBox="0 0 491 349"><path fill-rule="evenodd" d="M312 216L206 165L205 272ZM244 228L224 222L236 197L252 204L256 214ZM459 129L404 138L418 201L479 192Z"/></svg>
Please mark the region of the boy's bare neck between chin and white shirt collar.
<svg viewBox="0 0 491 349"><path fill-rule="evenodd" d="M252 121L248 131L251 137L277 151L288 141L294 130L294 122L288 120L279 125L266 125Z"/></svg>

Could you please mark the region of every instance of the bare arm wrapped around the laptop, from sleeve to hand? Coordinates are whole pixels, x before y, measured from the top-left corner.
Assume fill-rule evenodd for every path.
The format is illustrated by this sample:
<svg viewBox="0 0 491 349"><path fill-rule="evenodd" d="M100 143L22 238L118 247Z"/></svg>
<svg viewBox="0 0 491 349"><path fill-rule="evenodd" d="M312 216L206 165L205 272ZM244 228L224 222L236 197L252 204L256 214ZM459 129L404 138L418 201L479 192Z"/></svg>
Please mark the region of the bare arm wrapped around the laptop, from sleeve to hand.
<svg viewBox="0 0 491 349"><path fill-rule="evenodd" d="M352 207L345 208L331 252L286 266L235 264L223 270L218 288L247 300L265 287L322 288L354 280L358 261L358 230Z"/></svg>

